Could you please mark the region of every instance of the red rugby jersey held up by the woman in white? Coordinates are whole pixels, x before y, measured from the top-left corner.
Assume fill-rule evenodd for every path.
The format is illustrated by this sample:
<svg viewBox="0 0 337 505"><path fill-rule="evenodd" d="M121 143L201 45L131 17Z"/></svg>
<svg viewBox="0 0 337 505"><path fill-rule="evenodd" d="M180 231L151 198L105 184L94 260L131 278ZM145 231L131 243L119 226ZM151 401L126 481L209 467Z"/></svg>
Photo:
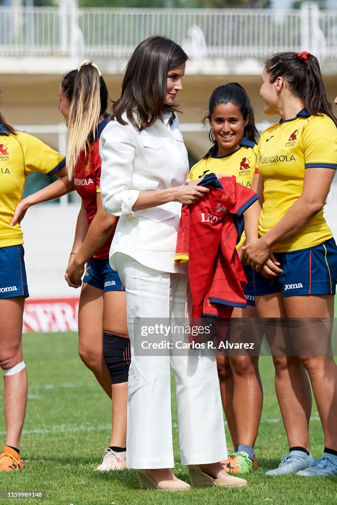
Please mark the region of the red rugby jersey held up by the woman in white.
<svg viewBox="0 0 337 505"><path fill-rule="evenodd" d="M182 206L175 261L188 261L192 317L228 318L234 307L246 307L233 216L241 216L258 195L235 177L220 182L223 189L210 187L195 204Z"/></svg>

